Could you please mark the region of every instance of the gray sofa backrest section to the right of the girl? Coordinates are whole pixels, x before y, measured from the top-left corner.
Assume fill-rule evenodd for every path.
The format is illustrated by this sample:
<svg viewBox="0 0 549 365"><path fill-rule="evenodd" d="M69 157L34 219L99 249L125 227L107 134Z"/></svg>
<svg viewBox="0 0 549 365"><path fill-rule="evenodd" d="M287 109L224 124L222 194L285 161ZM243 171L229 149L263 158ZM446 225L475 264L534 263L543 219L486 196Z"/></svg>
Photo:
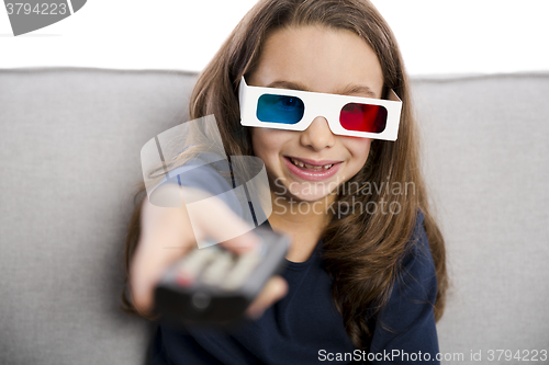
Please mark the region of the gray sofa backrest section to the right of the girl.
<svg viewBox="0 0 549 365"><path fill-rule="evenodd" d="M440 351L531 360L549 351L549 75L415 79L414 93L452 284Z"/></svg>

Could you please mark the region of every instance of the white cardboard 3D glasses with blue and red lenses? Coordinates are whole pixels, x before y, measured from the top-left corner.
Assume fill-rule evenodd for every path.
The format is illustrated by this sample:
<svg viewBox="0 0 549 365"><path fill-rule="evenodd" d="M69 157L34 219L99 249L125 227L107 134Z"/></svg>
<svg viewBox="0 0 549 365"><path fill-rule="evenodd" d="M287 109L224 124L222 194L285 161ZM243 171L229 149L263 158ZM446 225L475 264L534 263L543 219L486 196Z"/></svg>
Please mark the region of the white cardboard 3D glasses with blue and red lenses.
<svg viewBox="0 0 549 365"><path fill-rule="evenodd" d="M402 110L393 90L389 100L381 100L249 87L244 77L238 99L244 126L305 130L315 117L323 116L336 135L385 140L396 140Z"/></svg>

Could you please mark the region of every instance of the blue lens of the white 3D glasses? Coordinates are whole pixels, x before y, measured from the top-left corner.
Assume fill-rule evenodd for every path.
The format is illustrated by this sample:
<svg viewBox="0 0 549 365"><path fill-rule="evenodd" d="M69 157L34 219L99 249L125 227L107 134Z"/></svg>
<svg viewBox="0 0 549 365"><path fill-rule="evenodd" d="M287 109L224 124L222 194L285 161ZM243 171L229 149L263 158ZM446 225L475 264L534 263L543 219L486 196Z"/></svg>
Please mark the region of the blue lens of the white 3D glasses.
<svg viewBox="0 0 549 365"><path fill-rule="evenodd" d="M264 94L257 101L257 118L268 123L295 124L305 113L303 101L295 96Z"/></svg>

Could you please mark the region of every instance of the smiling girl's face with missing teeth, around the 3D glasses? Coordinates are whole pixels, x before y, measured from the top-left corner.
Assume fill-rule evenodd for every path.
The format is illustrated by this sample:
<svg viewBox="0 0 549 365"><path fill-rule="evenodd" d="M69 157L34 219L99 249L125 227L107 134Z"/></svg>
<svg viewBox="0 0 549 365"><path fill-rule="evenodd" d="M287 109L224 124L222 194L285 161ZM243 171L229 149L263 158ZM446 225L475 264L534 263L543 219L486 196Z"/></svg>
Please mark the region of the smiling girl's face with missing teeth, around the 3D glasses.
<svg viewBox="0 0 549 365"><path fill-rule="evenodd" d="M254 87L378 99L383 88L378 57L362 38L318 26L273 32L246 81ZM303 132L253 127L251 140L273 192L306 202L326 197L352 178L371 144L370 138L334 135L322 115Z"/></svg>

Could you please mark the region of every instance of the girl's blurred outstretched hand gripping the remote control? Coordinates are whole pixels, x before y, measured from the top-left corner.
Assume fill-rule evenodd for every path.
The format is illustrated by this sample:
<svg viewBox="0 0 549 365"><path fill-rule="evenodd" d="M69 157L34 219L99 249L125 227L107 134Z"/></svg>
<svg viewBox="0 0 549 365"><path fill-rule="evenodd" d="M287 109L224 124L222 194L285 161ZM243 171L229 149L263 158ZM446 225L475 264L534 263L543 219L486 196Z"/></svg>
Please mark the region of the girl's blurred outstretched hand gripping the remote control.
<svg viewBox="0 0 549 365"><path fill-rule="evenodd" d="M187 193L201 193L183 187ZM161 191L158 191L161 190ZM166 184L155 194L181 196L181 186ZM205 202L205 201L202 201ZM243 253L254 250L257 235L219 198L208 199L208 206L193 210L192 227L184 204L181 207L159 207L145 198L141 215L141 235L130 270L130 293L138 312L149 315L154 308L154 288L165 271L189 250L197 240L212 237L228 250ZM197 236L197 237L195 237ZM226 239L227 237L234 237ZM265 309L282 298L288 284L281 276L273 276L246 310L248 317L258 318Z"/></svg>

